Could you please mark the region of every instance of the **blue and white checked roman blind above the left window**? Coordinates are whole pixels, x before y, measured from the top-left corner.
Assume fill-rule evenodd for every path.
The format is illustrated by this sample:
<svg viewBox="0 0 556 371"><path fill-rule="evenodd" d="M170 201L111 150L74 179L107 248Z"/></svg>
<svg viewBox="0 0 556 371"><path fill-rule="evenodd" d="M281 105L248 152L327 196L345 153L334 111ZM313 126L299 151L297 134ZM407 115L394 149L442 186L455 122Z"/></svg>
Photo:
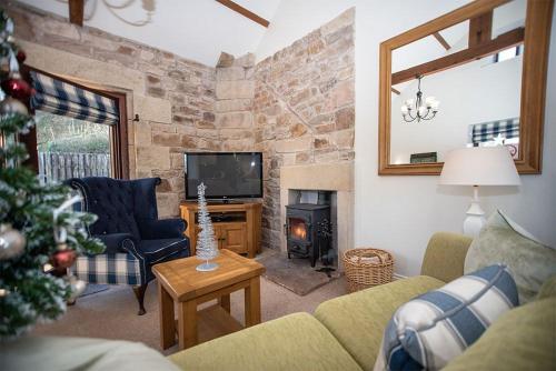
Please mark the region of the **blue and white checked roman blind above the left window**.
<svg viewBox="0 0 556 371"><path fill-rule="evenodd" d="M102 124L117 124L120 120L116 99L61 81L38 71L30 71L36 93L31 108Z"/></svg>

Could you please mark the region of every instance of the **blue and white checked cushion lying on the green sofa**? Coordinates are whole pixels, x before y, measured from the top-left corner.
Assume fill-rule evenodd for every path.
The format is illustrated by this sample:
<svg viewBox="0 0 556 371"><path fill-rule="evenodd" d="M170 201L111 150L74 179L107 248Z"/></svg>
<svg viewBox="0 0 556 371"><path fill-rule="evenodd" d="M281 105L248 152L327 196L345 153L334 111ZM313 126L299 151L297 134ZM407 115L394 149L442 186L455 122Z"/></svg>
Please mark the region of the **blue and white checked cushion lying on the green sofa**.
<svg viewBox="0 0 556 371"><path fill-rule="evenodd" d="M386 327L375 370L438 370L518 304L506 265L486 267L405 303Z"/></svg>

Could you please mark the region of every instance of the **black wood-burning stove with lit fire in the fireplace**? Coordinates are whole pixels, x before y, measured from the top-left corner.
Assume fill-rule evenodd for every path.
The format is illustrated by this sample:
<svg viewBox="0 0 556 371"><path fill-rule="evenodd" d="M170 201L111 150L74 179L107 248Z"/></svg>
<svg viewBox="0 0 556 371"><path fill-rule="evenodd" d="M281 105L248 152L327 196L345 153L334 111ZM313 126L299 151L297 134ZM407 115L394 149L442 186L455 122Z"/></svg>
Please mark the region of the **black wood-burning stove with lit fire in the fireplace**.
<svg viewBox="0 0 556 371"><path fill-rule="evenodd" d="M331 248L330 207L328 204L296 203L286 207L286 240L288 259L309 258L311 267L318 259L325 265Z"/></svg>

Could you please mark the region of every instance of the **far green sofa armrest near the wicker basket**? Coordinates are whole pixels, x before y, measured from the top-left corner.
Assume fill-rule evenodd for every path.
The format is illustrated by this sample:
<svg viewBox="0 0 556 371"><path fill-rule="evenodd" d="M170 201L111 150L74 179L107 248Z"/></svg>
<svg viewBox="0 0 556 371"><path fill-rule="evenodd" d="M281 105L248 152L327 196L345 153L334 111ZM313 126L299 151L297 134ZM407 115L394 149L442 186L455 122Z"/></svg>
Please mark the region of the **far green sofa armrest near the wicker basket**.
<svg viewBox="0 0 556 371"><path fill-rule="evenodd" d="M464 274L464 262L473 239L449 232L433 234L428 241L420 273L449 282Z"/></svg>

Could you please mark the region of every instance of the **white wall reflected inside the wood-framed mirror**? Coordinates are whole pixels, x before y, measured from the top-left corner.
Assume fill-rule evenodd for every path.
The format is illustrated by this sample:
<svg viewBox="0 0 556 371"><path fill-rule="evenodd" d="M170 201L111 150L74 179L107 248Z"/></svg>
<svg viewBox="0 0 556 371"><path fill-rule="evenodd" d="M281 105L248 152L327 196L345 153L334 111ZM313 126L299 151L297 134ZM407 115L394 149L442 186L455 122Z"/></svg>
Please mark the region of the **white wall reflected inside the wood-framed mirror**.
<svg viewBox="0 0 556 371"><path fill-rule="evenodd" d="M409 163L411 153L423 152L437 152L444 161L447 152L467 144L469 124L519 117L522 67L522 56L499 63L484 58L424 77L423 99L440 100L439 112L428 121L405 122L400 112L406 100L415 99L417 80L393 93L391 161Z"/></svg>

